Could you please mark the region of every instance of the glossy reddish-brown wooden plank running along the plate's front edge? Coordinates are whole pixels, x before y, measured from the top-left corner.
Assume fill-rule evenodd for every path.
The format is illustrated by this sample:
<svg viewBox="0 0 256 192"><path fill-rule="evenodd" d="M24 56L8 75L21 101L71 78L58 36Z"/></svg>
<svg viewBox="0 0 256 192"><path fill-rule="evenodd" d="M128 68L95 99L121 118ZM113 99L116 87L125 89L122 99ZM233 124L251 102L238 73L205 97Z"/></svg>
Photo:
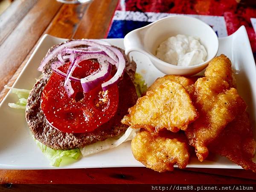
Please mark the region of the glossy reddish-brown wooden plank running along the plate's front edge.
<svg viewBox="0 0 256 192"><path fill-rule="evenodd" d="M60 170L0 170L0 183L256 183L256 179L232 178L175 169L173 172L154 172L143 167L60 169ZM35 179L38 178L38 179Z"/></svg>

